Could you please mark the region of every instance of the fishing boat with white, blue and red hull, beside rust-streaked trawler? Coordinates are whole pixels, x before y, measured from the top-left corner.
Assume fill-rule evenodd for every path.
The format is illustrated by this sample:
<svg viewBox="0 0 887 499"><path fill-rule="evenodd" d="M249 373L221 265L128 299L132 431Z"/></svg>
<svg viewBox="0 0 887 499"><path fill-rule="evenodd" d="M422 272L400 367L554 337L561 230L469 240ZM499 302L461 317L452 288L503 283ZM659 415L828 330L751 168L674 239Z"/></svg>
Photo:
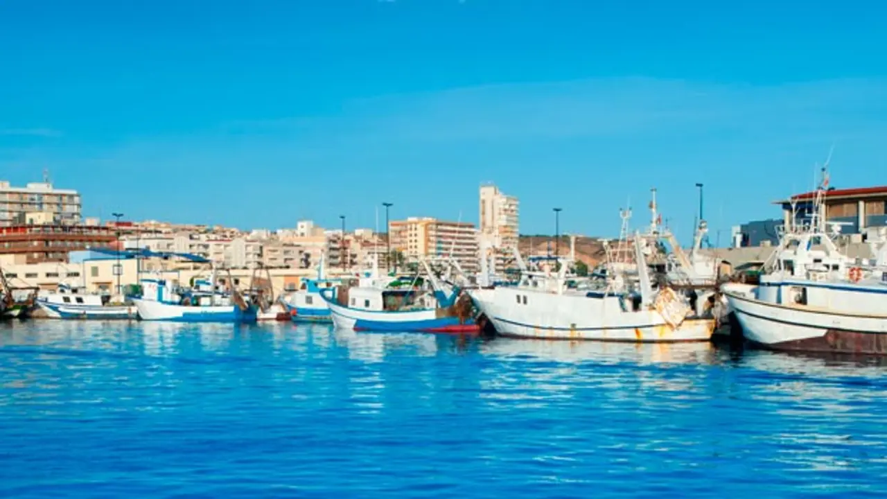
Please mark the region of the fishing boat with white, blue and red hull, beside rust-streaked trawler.
<svg viewBox="0 0 887 499"><path fill-rule="evenodd" d="M329 306L336 328L357 331L418 331L476 334L471 299L458 286L438 281L421 260L427 276L417 273L412 286L387 286L372 277L353 288L324 289L320 296ZM421 279L421 280L420 280ZM400 282L400 281L396 281Z"/></svg>

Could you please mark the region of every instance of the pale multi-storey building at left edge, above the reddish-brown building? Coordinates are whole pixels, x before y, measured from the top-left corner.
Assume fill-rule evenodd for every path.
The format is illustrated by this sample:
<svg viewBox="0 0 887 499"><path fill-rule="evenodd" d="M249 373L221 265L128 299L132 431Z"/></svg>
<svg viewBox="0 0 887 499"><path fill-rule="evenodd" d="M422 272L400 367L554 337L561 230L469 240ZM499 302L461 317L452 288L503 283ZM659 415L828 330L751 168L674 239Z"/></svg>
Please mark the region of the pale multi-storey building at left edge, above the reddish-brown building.
<svg viewBox="0 0 887 499"><path fill-rule="evenodd" d="M35 218L37 213L42 215ZM48 181L13 187L0 180L0 226L24 226L29 218L33 225L76 225L80 216L80 194L75 190L56 189Z"/></svg>

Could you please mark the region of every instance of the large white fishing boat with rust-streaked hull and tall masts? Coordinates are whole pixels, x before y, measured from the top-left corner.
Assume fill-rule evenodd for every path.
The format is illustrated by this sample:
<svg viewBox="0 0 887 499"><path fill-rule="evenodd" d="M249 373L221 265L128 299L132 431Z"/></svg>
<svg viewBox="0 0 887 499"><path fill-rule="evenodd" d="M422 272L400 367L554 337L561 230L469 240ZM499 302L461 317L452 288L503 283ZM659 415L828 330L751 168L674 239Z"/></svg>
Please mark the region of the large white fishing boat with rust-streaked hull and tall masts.
<svg viewBox="0 0 887 499"><path fill-rule="evenodd" d="M664 278L653 281L648 257L658 250L656 242L669 234L658 225L654 211L649 233L629 237L630 217L631 210L624 210L620 240L616 249L605 246L607 264L597 277L570 273L572 259L553 257L538 271L522 268L517 286L469 293L498 334L506 337L709 341L715 327L714 289L681 290ZM692 267L684 272L698 278Z"/></svg>

